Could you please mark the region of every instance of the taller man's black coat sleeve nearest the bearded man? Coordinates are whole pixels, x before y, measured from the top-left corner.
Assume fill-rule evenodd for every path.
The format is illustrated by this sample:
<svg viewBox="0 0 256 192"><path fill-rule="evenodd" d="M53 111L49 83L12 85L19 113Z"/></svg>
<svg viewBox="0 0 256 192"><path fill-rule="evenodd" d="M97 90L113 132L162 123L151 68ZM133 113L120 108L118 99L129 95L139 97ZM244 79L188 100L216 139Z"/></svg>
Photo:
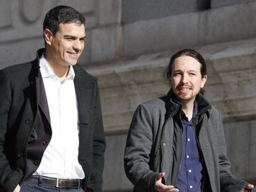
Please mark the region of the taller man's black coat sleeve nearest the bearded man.
<svg viewBox="0 0 256 192"><path fill-rule="evenodd" d="M96 84L95 89L95 102L93 109L93 125L94 125L94 134L93 134L93 167L92 173L90 176L90 181L88 188L91 188L93 192L101 192L103 185L103 169L104 169L104 152L106 149L106 141L103 128L101 104L100 104L100 95L98 90L98 83Z"/></svg>

